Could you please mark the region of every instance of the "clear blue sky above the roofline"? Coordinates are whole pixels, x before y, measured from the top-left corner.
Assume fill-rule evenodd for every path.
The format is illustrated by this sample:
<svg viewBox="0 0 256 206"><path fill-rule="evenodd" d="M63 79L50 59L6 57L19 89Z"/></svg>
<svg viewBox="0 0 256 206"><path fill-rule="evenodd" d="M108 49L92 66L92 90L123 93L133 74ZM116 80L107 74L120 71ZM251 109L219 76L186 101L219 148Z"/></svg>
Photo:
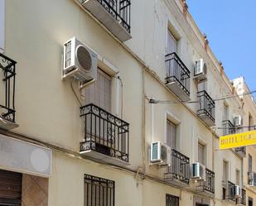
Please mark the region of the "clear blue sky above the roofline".
<svg viewBox="0 0 256 206"><path fill-rule="evenodd" d="M189 11L229 79L256 89L256 0L187 0ZM254 95L255 96L255 95Z"/></svg>

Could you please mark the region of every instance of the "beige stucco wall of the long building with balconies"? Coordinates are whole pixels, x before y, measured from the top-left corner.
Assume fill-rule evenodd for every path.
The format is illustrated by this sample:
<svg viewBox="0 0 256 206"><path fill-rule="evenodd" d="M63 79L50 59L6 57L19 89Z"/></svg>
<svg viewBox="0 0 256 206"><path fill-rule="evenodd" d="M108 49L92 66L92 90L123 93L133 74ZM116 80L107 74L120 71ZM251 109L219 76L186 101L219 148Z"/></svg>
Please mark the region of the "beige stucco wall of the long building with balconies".
<svg viewBox="0 0 256 206"><path fill-rule="evenodd" d="M167 26L180 36L178 54L191 70L191 100L196 100L196 84L193 80L195 60L203 57L208 67L207 92L212 98L231 93L232 86L212 56L201 46L175 2L133 1L132 36L125 45L144 61L138 63L123 46L114 40L92 17L73 0L7 0L6 1L6 51L17 60L17 123L13 132L24 134L56 146L79 151L83 138L80 105L70 89L70 80L60 77L63 43L76 36L100 56L118 69L123 81L123 119L130 123L130 165L138 170L143 162L143 132L145 132L146 174L162 180L164 169L149 165L148 148L152 138L165 141L167 114L181 123L178 132L178 149L191 162L197 160L197 142L205 142L207 148L205 166L215 170L215 205L222 203L222 160L229 161L229 180L235 183L235 170L241 170L242 160L233 151L219 151L218 136L221 129L210 130L196 116L198 104L156 104L147 97L176 101L177 98L163 85L166 77L165 55ZM147 66L148 72L142 69ZM157 74L158 80L152 77ZM116 79L114 79L114 84ZM144 93L142 93L144 85ZM120 116L115 101L118 98L113 87L112 112ZM79 93L78 90L76 90ZM86 98L86 97L85 97ZM143 108L143 103L145 108ZM241 110L239 98L226 100L230 120ZM216 127L222 127L223 101L216 102ZM145 109L145 128L143 127ZM153 134L152 134L153 131ZM135 174L80 160L54 151L53 174L49 179L49 205L83 205L84 175L97 175L116 182L116 205L165 205L165 195L173 194L181 199L181 206L193 204L194 192L175 189L156 180L138 180ZM210 205L213 204L210 201Z"/></svg>

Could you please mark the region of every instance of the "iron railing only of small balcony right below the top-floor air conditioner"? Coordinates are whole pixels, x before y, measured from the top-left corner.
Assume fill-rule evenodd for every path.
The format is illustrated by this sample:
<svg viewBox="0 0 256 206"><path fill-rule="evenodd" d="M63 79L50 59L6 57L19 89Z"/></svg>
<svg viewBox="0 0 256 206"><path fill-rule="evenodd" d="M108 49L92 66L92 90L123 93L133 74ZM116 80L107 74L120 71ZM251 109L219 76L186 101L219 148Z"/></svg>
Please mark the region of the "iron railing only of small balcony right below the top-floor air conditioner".
<svg viewBox="0 0 256 206"><path fill-rule="evenodd" d="M215 122L215 101L205 90L198 92L197 97L199 98L197 114L206 114L212 122Z"/></svg>

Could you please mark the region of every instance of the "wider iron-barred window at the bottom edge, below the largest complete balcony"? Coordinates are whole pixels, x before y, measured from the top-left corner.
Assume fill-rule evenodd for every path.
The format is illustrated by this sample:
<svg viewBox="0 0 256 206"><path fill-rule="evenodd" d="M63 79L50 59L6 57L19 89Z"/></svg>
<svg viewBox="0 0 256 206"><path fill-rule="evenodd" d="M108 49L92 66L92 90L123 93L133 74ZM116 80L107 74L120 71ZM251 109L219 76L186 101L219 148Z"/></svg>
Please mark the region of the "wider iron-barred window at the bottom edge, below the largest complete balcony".
<svg viewBox="0 0 256 206"><path fill-rule="evenodd" d="M114 206L114 181L85 175L85 206Z"/></svg>

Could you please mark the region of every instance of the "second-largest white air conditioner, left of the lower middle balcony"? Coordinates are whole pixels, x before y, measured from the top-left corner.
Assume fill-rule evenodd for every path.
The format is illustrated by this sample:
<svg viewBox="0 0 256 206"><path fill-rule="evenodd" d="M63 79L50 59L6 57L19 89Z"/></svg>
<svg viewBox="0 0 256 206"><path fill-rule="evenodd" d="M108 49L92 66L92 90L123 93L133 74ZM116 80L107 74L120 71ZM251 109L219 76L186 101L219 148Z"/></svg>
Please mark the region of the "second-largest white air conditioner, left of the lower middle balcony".
<svg viewBox="0 0 256 206"><path fill-rule="evenodd" d="M171 165L171 147L160 141L152 142L150 162L157 165Z"/></svg>

